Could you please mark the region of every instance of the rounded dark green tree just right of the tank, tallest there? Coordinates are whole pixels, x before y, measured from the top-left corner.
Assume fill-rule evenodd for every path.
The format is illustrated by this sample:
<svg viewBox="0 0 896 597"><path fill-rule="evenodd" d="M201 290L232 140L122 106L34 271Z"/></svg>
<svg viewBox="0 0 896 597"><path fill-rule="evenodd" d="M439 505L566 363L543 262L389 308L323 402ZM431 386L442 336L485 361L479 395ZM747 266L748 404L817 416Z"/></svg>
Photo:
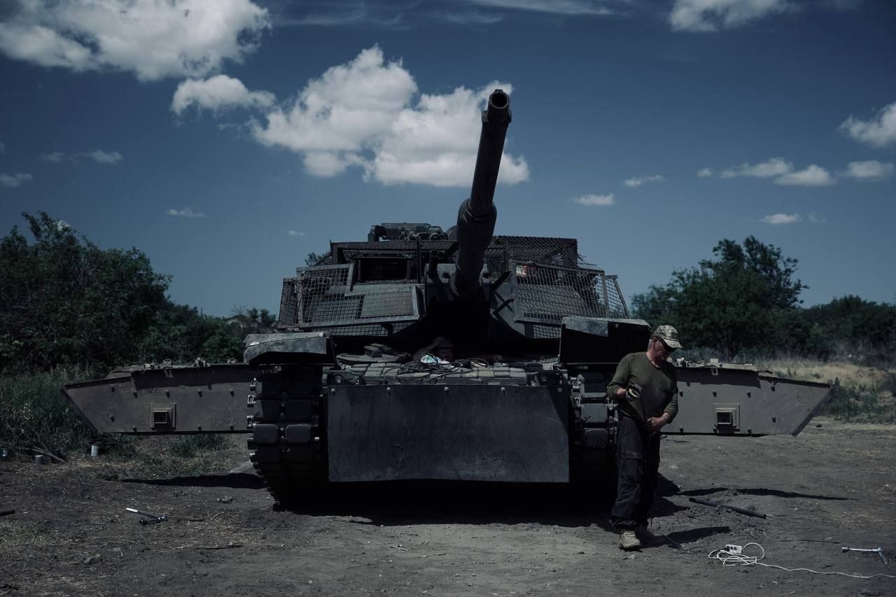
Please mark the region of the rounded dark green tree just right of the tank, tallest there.
<svg viewBox="0 0 896 597"><path fill-rule="evenodd" d="M719 350L725 358L751 349L794 348L799 293L797 260L747 237L722 240L714 259L677 270L665 286L633 297L633 311L651 324L673 324L688 346Z"/></svg>

